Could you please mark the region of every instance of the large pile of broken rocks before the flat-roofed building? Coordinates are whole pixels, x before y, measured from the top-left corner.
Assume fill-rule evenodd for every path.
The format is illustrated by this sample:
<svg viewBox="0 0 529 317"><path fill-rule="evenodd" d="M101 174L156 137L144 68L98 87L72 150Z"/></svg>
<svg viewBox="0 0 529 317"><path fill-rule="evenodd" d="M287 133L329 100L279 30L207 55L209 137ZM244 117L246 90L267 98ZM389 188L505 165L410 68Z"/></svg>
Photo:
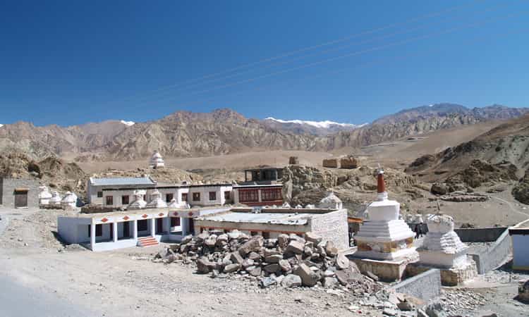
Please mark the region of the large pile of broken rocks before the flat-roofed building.
<svg viewBox="0 0 529 317"><path fill-rule="evenodd" d="M382 288L373 279L375 275L362 275L332 242L324 242L312 232L305 237L281 234L276 239L265 239L237 230L205 231L196 237L184 237L181 244L164 249L155 259L164 263L195 262L197 273L239 274L258 280L261 287L343 285L362 294Z"/></svg>

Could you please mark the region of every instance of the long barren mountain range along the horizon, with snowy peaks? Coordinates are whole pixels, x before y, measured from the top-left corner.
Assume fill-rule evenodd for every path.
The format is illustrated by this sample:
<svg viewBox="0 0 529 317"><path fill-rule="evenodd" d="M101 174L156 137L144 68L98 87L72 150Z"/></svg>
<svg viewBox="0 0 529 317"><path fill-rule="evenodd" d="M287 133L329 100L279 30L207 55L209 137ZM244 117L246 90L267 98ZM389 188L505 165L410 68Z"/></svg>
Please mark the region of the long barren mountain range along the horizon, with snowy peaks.
<svg viewBox="0 0 529 317"><path fill-rule="evenodd" d="M517 118L524 113L529 113L529 108L434 104L406 109L366 125L259 120L245 118L229 108L211 113L177 111L145 123L108 120L66 128L59 125L35 127L20 121L0 128L0 150L21 151L35 159L62 156L78 161L144 159L154 150L171 157L211 156L256 149L331 151L486 120Z"/></svg>

